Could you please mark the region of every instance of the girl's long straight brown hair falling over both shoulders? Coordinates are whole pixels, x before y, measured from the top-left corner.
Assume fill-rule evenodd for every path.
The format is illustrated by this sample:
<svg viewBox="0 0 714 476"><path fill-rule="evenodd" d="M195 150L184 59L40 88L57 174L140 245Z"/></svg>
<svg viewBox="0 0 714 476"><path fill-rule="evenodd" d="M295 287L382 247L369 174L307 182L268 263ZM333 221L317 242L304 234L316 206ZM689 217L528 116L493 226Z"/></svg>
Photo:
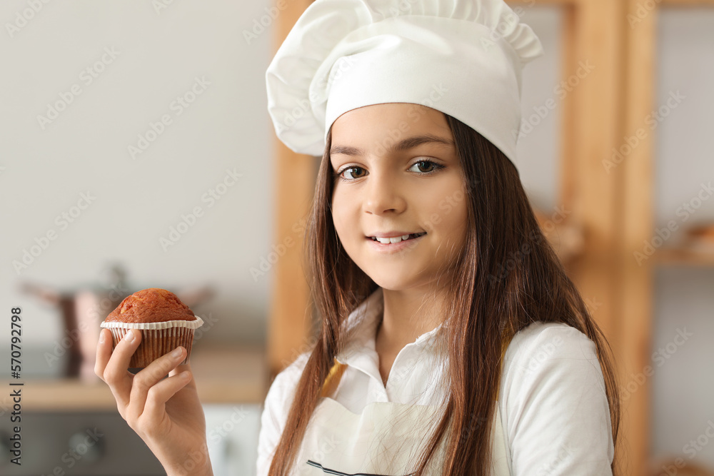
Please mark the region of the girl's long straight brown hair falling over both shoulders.
<svg viewBox="0 0 714 476"><path fill-rule="evenodd" d="M444 439L442 476L487 476L490 422L496 412L502 343L534 322L565 323L597 348L618 447L620 400L612 350L583 298L543 236L513 163L480 133L446 115L463 170L468 231L446 300L448 350L443 416L426 442L416 475ZM288 476L333 358L346 343L343 322L377 285L349 258L335 231L331 197L331 131L318 171L306 232L306 268L319 328L276 447L270 476ZM506 265L508 263L508 265ZM482 365L488 363L488 365ZM476 421L476 424L474 424ZM618 475L618 452L612 469Z"/></svg>

